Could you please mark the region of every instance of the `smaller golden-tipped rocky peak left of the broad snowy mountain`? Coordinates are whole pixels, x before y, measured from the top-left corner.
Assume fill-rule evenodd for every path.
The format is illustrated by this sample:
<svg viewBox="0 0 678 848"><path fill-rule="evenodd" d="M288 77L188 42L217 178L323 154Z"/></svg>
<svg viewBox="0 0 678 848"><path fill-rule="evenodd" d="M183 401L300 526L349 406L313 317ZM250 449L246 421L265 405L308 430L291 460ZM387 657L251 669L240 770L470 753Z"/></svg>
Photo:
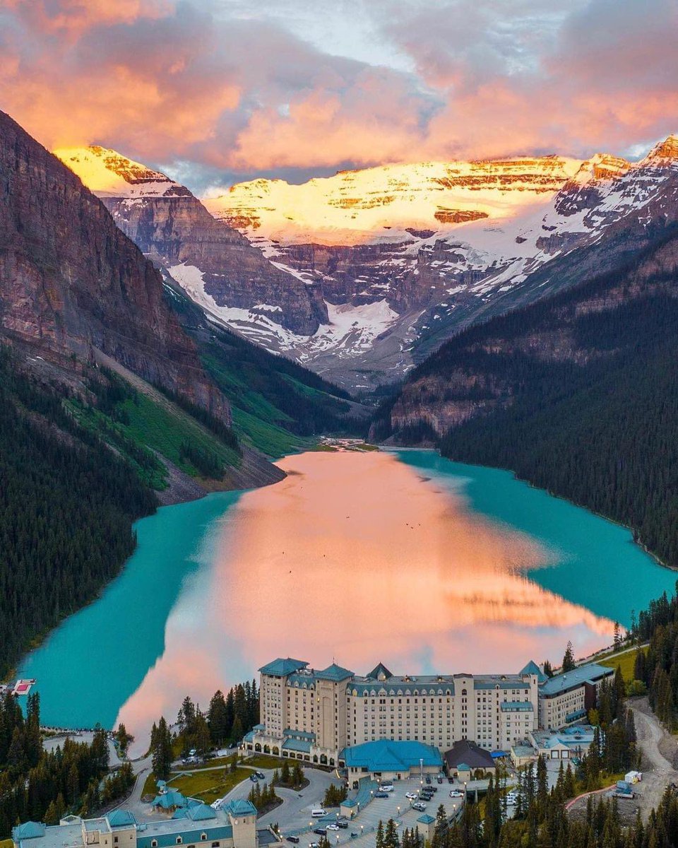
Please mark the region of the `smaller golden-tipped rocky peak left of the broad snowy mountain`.
<svg viewBox="0 0 678 848"><path fill-rule="evenodd" d="M327 320L320 287L280 270L247 238L214 220L184 186L101 147L54 151L115 223L204 309L261 316L279 332L312 335Z"/></svg>

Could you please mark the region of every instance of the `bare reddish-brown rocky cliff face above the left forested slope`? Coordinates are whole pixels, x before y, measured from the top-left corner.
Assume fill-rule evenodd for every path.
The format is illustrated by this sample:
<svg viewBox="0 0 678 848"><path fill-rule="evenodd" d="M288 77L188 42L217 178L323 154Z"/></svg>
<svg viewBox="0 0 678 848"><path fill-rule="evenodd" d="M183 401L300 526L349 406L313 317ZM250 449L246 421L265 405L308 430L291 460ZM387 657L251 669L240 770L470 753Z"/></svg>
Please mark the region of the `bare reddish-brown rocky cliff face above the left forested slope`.
<svg viewBox="0 0 678 848"><path fill-rule="evenodd" d="M95 349L222 421L229 404L101 201L0 113L0 335L66 367Z"/></svg>

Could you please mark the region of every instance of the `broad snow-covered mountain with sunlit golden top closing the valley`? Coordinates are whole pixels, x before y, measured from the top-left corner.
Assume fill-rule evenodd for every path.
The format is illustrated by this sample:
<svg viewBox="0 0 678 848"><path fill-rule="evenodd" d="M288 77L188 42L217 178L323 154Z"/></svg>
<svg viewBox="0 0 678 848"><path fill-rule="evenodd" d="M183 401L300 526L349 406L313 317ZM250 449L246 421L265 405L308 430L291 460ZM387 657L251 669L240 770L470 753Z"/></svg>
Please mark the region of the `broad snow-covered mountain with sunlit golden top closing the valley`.
<svg viewBox="0 0 678 848"><path fill-rule="evenodd" d="M397 380L464 326L647 245L676 218L676 147L669 137L636 163L546 156L241 183L204 204L320 286L331 323L303 337L221 315L344 386Z"/></svg>

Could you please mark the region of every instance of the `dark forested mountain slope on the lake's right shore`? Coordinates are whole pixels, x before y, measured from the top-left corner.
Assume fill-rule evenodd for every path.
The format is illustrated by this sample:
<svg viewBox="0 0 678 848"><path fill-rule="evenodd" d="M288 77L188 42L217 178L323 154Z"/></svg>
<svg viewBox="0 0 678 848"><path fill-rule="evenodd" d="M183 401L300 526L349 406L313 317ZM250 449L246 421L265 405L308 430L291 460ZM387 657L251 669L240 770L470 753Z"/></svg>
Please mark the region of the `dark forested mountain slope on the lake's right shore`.
<svg viewBox="0 0 678 848"><path fill-rule="evenodd" d="M442 345L372 436L511 469L678 566L677 346L674 225L620 268Z"/></svg>

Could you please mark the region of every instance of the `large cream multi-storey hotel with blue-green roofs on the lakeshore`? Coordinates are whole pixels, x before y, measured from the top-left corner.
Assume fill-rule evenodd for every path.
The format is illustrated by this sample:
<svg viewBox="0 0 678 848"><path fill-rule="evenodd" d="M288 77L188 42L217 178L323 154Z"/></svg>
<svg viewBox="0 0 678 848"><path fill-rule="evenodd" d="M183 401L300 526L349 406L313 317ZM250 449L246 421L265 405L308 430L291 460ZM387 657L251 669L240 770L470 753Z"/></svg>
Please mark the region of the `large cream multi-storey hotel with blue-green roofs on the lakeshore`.
<svg viewBox="0 0 678 848"><path fill-rule="evenodd" d="M277 659L259 669L261 723L246 748L343 765L342 751L377 739L419 741L441 751L459 739L508 750L540 726L579 720L613 669L590 664L549 680L535 662L518 674L393 675L381 663L364 677L336 664ZM548 701L545 706L544 701ZM555 726L555 725L554 725Z"/></svg>

